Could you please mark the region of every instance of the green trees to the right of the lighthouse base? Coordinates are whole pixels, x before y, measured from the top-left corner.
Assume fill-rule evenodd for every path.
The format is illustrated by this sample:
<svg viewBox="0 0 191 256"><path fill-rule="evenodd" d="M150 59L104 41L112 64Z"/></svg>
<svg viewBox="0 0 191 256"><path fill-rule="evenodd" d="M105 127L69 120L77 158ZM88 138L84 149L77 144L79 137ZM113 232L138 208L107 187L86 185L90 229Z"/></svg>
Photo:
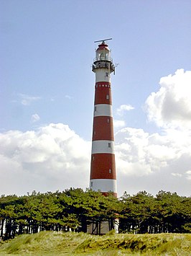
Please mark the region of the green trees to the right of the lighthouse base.
<svg viewBox="0 0 191 256"><path fill-rule="evenodd" d="M146 191L119 198L122 204L122 232L188 233L191 223L191 198L159 191L156 198Z"/></svg>

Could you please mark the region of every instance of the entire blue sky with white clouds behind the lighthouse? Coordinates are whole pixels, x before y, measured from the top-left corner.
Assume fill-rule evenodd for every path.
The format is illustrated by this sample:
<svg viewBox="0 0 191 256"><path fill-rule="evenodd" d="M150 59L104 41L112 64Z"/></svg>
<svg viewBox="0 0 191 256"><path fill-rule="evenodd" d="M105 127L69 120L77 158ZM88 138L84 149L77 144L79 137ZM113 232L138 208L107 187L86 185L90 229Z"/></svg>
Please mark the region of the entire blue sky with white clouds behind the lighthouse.
<svg viewBox="0 0 191 256"><path fill-rule="evenodd" d="M0 0L0 195L89 186L95 40L111 48L118 196L190 196L190 0Z"/></svg>

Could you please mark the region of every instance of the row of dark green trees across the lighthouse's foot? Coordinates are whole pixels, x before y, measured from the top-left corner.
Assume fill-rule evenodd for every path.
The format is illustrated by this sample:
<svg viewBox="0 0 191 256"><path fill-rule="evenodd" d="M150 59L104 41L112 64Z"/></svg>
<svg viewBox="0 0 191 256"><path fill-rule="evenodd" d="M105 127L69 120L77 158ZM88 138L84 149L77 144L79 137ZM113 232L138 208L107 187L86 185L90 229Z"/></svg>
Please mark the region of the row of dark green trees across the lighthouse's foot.
<svg viewBox="0 0 191 256"><path fill-rule="evenodd" d="M121 233L190 233L191 198L165 191L114 198L80 188L0 197L1 239L49 230L86 232L92 222L115 219Z"/></svg>

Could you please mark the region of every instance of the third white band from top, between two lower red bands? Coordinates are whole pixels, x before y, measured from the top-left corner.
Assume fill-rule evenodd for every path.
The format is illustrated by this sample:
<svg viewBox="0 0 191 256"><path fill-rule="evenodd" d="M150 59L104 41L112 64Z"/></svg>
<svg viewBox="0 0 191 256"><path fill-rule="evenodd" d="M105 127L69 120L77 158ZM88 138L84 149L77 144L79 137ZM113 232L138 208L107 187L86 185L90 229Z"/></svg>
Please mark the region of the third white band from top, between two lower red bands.
<svg viewBox="0 0 191 256"><path fill-rule="evenodd" d="M91 154L114 154L114 141L92 141Z"/></svg>

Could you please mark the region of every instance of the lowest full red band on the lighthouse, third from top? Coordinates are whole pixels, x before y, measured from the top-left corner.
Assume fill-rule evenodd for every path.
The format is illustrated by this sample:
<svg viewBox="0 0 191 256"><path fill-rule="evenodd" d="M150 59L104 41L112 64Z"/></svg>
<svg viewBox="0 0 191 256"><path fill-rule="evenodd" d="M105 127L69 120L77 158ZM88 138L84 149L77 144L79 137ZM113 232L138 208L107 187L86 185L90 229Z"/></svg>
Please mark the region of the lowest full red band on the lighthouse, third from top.
<svg viewBox="0 0 191 256"><path fill-rule="evenodd" d="M92 154L90 180L93 179L116 180L116 164L114 154Z"/></svg>

